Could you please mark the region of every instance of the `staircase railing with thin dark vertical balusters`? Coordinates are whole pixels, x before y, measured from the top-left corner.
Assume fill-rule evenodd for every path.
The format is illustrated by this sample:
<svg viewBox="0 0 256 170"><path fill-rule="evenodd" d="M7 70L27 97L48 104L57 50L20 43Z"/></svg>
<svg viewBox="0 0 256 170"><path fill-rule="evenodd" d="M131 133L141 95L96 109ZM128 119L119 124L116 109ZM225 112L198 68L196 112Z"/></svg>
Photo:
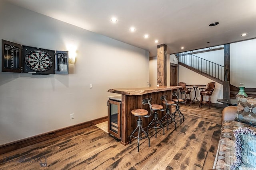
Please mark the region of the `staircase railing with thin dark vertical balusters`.
<svg viewBox="0 0 256 170"><path fill-rule="evenodd" d="M178 64L197 72L211 80L223 84L224 81L224 66L202 59L190 53L178 53Z"/></svg>

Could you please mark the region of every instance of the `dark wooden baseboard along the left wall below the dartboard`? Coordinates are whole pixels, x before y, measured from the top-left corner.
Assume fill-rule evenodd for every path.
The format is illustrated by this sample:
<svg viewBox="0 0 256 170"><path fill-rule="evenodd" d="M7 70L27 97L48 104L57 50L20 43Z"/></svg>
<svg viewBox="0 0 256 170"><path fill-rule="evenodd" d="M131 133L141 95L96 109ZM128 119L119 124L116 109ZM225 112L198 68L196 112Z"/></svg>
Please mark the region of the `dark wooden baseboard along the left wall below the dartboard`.
<svg viewBox="0 0 256 170"><path fill-rule="evenodd" d="M57 129L55 131L46 132L46 133L36 135L36 136L33 136L33 137L28 137L28 138L21 139L21 140L18 140L18 141L14 141L14 142L11 142L11 143L7 143L7 144L4 144L4 145L0 145L0 154L4 154L4 153L10 152L12 150L20 149L22 147L27 147L29 145L33 145L33 144L38 143L38 142L46 141L48 139L52 139L54 137L58 137L60 135L66 134L66 133L74 132L74 131L77 131L79 129L83 129L83 128L86 128L86 127L90 127L92 125L96 125L98 123L102 123L104 121L108 121L108 116L102 117L102 118L99 118L99 119L94 119L92 121L87 121L87 122L84 122L84 123L79 123L77 125L72 125L72 126L69 126L69 127L62 128L62 129Z"/></svg>

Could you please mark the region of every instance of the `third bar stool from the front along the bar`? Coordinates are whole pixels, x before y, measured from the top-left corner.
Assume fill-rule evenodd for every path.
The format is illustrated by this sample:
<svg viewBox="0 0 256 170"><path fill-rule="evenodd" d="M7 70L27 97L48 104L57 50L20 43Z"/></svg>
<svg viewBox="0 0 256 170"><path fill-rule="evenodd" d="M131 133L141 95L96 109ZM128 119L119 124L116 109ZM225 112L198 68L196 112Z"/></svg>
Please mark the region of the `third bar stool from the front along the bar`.
<svg viewBox="0 0 256 170"><path fill-rule="evenodd" d="M174 96L174 92L172 92L172 96ZM176 106L177 104L172 100L166 100L166 98L165 98L165 100L162 100L162 102L163 102L163 104L166 105L166 114L162 117L161 122L162 121L167 122L167 130L169 130L169 124L174 122L174 126L175 126L175 129L176 129L176 124L177 123L174 119L175 118L174 115L172 115L172 113L170 111L169 106L172 107L172 106Z"/></svg>

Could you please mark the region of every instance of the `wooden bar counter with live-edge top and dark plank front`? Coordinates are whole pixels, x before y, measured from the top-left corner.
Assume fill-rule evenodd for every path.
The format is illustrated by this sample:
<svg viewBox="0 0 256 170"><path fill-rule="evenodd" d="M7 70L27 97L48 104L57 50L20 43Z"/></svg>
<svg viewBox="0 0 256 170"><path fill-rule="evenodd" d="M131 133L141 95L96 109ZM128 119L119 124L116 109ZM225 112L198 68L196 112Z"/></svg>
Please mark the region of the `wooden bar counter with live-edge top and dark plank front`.
<svg viewBox="0 0 256 170"><path fill-rule="evenodd" d="M121 143L127 145L129 143L129 137L132 131L137 126L136 119L132 115L132 109L146 109L148 114L150 114L150 108L148 105L143 105L142 100L145 98L152 97L152 104L162 104L160 96L167 95L166 99L171 100L172 90L182 88L182 86L155 86L155 87L145 87L145 88L118 88L110 89L108 92L122 94L122 111L121 111ZM159 118L161 118L164 113L159 111ZM153 115L148 118L142 117L143 127L147 127L150 121L153 119Z"/></svg>

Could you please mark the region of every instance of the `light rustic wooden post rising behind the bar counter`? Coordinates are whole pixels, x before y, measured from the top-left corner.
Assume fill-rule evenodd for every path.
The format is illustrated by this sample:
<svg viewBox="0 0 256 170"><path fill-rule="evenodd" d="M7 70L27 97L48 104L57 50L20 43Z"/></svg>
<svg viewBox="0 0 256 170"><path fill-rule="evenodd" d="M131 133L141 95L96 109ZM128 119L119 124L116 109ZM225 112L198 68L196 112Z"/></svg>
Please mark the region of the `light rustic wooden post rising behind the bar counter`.
<svg viewBox="0 0 256 170"><path fill-rule="evenodd" d="M166 45L157 46L157 84L167 85Z"/></svg>

